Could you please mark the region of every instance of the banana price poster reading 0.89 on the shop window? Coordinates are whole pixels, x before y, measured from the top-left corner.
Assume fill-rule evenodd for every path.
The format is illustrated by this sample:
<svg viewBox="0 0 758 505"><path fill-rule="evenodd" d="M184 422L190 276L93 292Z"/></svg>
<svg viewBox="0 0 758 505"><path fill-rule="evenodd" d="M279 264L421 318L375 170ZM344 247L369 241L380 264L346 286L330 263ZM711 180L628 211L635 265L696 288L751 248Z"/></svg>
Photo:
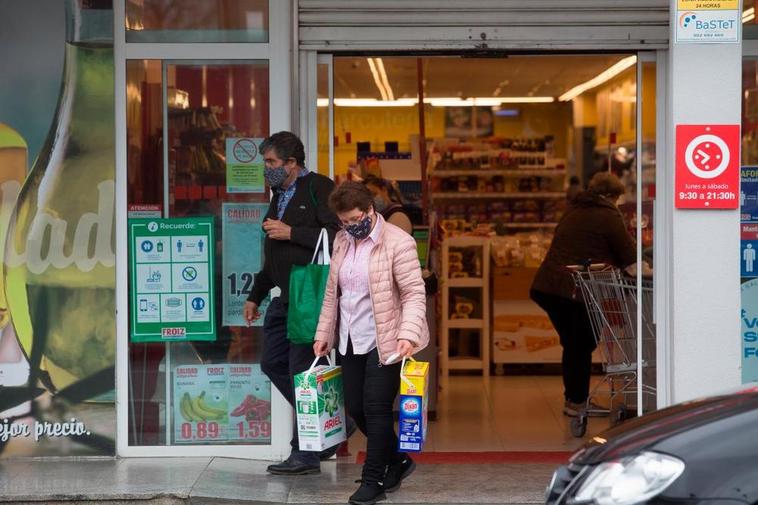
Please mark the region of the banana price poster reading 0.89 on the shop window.
<svg viewBox="0 0 758 505"><path fill-rule="evenodd" d="M174 369L174 442L225 441L229 431L229 366Z"/></svg>

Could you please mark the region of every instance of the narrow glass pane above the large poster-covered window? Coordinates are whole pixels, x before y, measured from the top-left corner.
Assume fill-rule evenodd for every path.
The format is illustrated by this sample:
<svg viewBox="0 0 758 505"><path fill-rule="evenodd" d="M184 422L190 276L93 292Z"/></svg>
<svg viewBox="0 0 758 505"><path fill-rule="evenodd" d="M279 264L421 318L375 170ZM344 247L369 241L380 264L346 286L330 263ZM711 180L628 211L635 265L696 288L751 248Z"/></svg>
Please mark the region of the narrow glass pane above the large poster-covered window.
<svg viewBox="0 0 758 505"><path fill-rule="evenodd" d="M126 0L127 42L268 42L268 0Z"/></svg>

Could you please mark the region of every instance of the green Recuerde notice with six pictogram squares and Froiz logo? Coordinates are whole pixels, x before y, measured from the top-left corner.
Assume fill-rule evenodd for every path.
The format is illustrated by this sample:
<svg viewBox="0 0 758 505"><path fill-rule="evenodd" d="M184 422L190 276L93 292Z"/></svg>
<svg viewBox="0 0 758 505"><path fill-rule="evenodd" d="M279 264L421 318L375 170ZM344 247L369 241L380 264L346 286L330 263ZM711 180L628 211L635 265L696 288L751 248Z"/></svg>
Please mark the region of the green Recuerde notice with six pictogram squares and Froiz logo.
<svg viewBox="0 0 758 505"><path fill-rule="evenodd" d="M132 342L216 340L213 217L129 220Z"/></svg>

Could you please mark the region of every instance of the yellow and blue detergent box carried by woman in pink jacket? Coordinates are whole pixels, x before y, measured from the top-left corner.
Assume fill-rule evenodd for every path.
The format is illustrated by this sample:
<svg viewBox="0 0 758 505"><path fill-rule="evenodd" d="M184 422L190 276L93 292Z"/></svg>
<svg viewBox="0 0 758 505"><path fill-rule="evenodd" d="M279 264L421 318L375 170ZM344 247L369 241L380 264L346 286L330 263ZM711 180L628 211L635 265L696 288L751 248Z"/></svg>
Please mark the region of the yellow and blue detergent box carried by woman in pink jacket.
<svg viewBox="0 0 758 505"><path fill-rule="evenodd" d="M398 450L421 452L429 407L429 363L407 361L400 372Z"/></svg>

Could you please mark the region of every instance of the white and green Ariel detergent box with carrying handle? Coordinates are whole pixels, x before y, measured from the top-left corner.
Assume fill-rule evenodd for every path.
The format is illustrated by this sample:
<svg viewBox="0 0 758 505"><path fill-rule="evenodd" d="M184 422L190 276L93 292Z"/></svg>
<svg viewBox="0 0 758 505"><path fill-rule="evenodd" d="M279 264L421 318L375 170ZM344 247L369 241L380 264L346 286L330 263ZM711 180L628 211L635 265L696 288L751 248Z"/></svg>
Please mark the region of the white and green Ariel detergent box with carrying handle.
<svg viewBox="0 0 758 505"><path fill-rule="evenodd" d="M315 364L295 376L297 435L302 451L323 451L346 439L342 368Z"/></svg>

